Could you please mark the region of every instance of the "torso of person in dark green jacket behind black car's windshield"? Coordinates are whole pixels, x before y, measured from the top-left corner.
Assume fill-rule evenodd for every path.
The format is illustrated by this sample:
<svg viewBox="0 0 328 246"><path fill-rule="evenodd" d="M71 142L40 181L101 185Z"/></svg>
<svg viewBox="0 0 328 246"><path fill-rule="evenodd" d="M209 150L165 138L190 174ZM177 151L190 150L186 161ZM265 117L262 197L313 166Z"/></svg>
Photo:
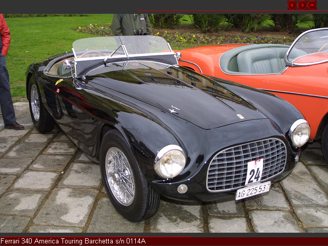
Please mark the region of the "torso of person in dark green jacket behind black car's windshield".
<svg viewBox="0 0 328 246"><path fill-rule="evenodd" d="M147 14L114 14L111 30L114 36L152 35Z"/></svg>

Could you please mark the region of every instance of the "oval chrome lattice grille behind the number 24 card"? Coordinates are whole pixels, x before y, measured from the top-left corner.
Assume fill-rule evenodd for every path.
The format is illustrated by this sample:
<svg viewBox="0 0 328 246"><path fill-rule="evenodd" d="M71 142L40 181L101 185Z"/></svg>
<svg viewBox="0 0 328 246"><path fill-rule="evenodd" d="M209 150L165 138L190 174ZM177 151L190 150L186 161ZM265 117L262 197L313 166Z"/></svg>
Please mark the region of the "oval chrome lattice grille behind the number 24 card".
<svg viewBox="0 0 328 246"><path fill-rule="evenodd" d="M284 142L278 138L269 138L220 151L209 165L207 189L221 192L243 187L247 163L260 158L263 158L261 181L280 174L287 159Z"/></svg>

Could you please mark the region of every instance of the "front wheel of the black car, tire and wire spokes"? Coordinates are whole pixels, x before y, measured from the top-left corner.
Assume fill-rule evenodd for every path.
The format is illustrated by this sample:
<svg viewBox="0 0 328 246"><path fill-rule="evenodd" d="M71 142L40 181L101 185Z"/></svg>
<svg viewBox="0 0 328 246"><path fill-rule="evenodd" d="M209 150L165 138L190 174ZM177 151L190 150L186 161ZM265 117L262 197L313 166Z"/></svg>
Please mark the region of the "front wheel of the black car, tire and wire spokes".
<svg viewBox="0 0 328 246"><path fill-rule="evenodd" d="M127 161L117 161L118 163L125 163L125 167L112 169L110 164L114 162L109 160L113 157L113 153L117 153L115 156L119 157L119 160ZM107 155L109 156L107 157ZM118 167L118 165L113 166ZM117 169L119 169L118 172L115 172ZM116 130L108 131L101 141L100 172L107 194L120 215L132 222L137 222L145 220L156 213L159 206L159 195L149 186L126 140ZM110 175L107 175L107 173ZM128 182L121 182L124 179L122 177L125 179L128 177ZM134 183L133 186L132 182ZM129 189L126 189L127 183L130 184ZM121 189L115 190L117 186L120 186ZM119 191L128 190L133 192L129 194L126 192L125 194L128 194L124 197L126 200L122 199L118 194ZM132 193L133 197L131 197Z"/></svg>

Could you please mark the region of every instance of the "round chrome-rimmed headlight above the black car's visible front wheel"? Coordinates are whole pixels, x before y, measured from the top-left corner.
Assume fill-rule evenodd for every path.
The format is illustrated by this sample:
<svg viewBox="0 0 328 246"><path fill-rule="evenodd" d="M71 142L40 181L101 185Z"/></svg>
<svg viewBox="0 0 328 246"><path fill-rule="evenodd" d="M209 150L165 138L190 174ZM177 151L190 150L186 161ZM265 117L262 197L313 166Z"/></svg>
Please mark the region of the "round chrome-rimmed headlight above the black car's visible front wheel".
<svg viewBox="0 0 328 246"><path fill-rule="evenodd" d="M168 145L162 148L155 158L155 171L163 178L177 176L186 165L186 156L177 145Z"/></svg>

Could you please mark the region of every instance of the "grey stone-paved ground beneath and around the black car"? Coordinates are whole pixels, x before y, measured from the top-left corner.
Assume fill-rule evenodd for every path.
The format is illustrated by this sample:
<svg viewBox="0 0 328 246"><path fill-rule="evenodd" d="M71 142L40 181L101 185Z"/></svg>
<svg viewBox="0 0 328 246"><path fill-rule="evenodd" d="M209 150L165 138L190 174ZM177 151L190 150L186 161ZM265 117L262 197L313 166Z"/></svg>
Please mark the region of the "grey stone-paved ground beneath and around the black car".
<svg viewBox="0 0 328 246"><path fill-rule="evenodd" d="M328 166L310 145L268 194L238 203L171 203L132 223L116 213L99 166L58 129L40 134L28 104L15 103L23 131L0 116L0 232L328 232Z"/></svg>

